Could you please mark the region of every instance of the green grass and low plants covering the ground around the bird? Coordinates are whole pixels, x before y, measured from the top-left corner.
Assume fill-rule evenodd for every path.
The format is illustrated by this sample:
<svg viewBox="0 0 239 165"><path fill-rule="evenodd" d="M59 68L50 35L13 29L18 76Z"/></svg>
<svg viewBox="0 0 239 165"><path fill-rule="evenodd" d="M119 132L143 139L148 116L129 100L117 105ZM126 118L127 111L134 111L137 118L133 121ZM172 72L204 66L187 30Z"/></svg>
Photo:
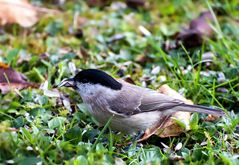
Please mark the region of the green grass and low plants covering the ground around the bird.
<svg viewBox="0 0 239 165"><path fill-rule="evenodd" d="M35 1L36 2L36 1ZM196 104L218 106L227 116L214 122L193 115L191 131L178 137L153 136L142 144L119 146L134 137L98 128L80 96L60 89L69 107L41 89L0 94L0 162L2 164L238 164L239 132L239 30L238 2L153 1L150 9L89 8L84 1L64 6L37 1L61 14L45 15L22 29L7 26L0 36L0 61L23 73L31 82L48 81L48 88L74 73L76 68L100 68L119 77L131 75L140 86L157 89L168 84ZM215 16L215 38L201 47L180 47L166 52L165 40L201 11L219 6L226 15ZM85 24L79 22L86 20ZM144 36L142 25L151 33ZM83 36L80 35L80 29ZM120 40L112 41L116 34ZM86 50L85 52L83 51ZM215 58L201 62L205 52ZM43 58L43 56L46 58ZM140 58L146 62L141 62ZM152 69L160 67L158 74ZM225 79L219 80L220 75ZM206 75L206 76L205 76ZM150 77L145 82L144 77ZM177 145L182 147L177 149Z"/></svg>

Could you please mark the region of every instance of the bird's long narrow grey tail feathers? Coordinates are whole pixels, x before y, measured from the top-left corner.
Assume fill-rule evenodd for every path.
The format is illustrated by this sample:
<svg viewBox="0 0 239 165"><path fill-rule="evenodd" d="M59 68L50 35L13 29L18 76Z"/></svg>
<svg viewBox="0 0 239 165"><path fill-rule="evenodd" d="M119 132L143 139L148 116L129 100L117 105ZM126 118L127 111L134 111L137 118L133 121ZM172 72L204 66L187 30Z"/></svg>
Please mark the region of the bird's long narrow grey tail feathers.
<svg viewBox="0 0 239 165"><path fill-rule="evenodd" d="M214 109L214 108L209 108L201 105L189 105L189 104L182 104L176 109L180 107L180 111L186 111L186 112L198 112L198 113L206 113L206 114L212 114L216 116L224 116L225 112L221 109Z"/></svg>

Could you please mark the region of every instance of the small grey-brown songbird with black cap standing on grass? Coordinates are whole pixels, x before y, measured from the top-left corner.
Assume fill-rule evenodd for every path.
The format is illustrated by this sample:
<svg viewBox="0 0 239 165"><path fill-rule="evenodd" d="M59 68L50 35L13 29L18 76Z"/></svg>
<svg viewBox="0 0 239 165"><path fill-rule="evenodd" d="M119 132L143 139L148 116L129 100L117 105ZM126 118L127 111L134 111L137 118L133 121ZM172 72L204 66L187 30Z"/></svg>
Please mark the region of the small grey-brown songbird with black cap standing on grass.
<svg viewBox="0 0 239 165"><path fill-rule="evenodd" d="M82 70L73 78L64 79L58 87L62 86L72 87L81 95L99 124L105 125L111 119L113 130L130 134L153 128L177 111L224 115L220 109L185 104L157 91L116 80L97 69Z"/></svg>

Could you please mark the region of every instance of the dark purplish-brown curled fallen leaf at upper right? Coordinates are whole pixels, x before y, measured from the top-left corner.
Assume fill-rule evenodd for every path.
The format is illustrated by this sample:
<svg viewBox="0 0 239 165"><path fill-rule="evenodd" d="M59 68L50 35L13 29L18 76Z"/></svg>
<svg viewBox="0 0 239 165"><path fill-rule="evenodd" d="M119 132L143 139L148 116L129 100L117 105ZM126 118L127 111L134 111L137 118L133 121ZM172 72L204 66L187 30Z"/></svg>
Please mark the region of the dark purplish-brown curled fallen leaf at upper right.
<svg viewBox="0 0 239 165"><path fill-rule="evenodd" d="M181 31L177 36L177 46L182 43L186 48L202 45L205 38L213 36L210 26L213 17L210 11L202 12L200 16L190 22L189 28Z"/></svg>

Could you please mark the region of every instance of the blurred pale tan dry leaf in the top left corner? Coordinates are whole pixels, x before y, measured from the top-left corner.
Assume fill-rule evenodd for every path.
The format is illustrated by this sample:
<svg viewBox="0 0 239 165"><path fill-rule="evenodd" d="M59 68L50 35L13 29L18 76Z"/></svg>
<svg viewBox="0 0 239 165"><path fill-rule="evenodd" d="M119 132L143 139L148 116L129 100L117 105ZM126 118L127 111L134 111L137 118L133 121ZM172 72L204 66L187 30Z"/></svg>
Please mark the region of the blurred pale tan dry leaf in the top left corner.
<svg viewBox="0 0 239 165"><path fill-rule="evenodd" d="M30 27L38 21L36 9L27 0L0 0L0 24Z"/></svg>

